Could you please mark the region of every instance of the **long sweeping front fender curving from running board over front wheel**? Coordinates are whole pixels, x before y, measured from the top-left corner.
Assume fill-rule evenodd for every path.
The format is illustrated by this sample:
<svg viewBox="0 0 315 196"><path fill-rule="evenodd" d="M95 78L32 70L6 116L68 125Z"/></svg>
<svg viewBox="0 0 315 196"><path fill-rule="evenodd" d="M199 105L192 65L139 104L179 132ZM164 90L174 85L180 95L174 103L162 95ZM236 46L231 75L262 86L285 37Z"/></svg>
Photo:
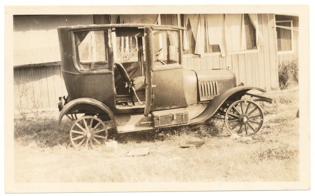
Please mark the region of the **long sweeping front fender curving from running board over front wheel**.
<svg viewBox="0 0 315 196"><path fill-rule="evenodd" d="M236 86L234 88L228 89L222 94L216 96L212 99L205 110L197 117L190 120L191 124L200 123L207 119L209 119L219 108L220 106L227 100L239 100L243 95L246 94L249 90L259 90L261 92L266 92L266 90L252 87L252 86Z"/></svg>

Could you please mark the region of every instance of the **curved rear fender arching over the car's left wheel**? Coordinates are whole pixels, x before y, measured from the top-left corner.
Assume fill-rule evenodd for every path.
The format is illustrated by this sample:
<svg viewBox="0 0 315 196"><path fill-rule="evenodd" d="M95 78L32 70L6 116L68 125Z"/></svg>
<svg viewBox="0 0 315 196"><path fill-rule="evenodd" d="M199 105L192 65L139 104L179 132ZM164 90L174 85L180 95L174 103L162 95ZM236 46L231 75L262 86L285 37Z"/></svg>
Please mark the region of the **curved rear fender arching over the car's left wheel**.
<svg viewBox="0 0 315 196"><path fill-rule="evenodd" d="M106 113L114 121L114 114L104 103L92 98L78 98L68 102L60 111L58 123L66 114L73 113ZM116 128L116 123L114 123Z"/></svg>

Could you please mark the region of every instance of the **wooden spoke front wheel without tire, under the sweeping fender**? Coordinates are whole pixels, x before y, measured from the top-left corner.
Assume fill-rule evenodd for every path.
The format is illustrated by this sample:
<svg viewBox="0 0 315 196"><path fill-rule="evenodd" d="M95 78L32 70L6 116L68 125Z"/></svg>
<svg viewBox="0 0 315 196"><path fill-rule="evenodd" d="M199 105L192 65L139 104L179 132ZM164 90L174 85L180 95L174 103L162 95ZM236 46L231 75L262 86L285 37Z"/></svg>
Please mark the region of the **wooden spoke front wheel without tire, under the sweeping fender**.
<svg viewBox="0 0 315 196"><path fill-rule="evenodd" d="M238 136L257 133L263 123L261 108L253 101L238 100L229 105L225 113L227 129Z"/></svg>

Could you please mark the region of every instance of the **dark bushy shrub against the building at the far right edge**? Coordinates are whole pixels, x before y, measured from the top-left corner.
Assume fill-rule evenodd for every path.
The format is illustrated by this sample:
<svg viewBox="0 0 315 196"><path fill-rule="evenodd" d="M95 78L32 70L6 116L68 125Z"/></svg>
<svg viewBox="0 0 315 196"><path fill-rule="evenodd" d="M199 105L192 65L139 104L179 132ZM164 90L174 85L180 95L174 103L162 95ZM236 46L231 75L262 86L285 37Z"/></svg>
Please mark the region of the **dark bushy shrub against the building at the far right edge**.
<svg viewBox="0 0 315 196"><path fill-rule="evenodd" d="M280 89L298 84L298 60L286 61L279 64L278 76Z"/></svg>

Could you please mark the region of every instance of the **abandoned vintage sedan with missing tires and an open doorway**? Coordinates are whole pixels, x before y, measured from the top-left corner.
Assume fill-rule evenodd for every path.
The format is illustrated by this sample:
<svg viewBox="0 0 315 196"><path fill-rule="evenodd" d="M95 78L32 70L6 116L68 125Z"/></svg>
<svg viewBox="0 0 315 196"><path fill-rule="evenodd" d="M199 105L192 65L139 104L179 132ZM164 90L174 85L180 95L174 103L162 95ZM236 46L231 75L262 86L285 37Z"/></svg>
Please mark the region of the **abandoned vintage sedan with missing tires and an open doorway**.
<svg viewBox="0 0 315 196"><path fill-rule="evenodd" d="M182 31L152 24L58 28L68 96L60 111L73 120L73 146L101 145L109 133L153 130L222 118L228 130L251 136L263 113L229 69L190 70L182 63ZM78 116L81 116L78 118Z"/></svg>

